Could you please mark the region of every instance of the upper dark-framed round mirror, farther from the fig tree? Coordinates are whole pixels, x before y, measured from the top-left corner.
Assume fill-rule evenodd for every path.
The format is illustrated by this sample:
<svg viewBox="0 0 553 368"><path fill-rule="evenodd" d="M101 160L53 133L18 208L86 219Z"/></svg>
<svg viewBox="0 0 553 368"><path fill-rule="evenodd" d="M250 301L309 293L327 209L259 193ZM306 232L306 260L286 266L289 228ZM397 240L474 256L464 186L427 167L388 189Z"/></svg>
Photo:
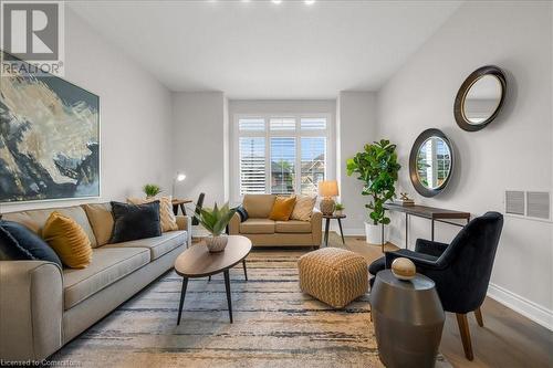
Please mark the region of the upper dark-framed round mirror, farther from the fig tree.
<svg viewBox="0 0 553 368"><path fill-rule="evenodd" d="M483 129L498 116L505 91L505 75L499 67L487 65L472 72L455 98L457 125L468 132Z"/></svg>

